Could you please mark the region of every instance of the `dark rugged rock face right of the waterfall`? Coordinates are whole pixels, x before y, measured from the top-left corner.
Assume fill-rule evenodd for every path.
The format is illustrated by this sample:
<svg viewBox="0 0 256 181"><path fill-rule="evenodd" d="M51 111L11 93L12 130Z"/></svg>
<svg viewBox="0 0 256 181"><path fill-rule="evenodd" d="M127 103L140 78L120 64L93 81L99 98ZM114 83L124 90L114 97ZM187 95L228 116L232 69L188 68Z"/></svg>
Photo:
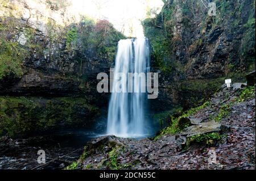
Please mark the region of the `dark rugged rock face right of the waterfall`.
<svg viewBox="0 0 256 181"><path fill-rule="evenodd" d="M184 109L207 98L225 78L244 81L255 69L255 7L250 1L166 1L162 12L143 22L151 41L151 65L160 71L159 99L154 104L181 104ZM160 107L160 106L158 106Z"/></svg>

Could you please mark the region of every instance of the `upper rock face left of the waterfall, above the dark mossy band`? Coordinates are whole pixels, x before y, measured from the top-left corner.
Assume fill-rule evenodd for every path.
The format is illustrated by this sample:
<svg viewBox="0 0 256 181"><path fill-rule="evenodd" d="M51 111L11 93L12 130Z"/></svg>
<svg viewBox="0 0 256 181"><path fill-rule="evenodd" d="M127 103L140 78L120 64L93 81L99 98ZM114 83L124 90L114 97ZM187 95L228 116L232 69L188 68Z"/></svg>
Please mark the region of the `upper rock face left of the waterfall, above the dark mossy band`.
<svg viewBox="0 0 256 181"><path fill-rule="evenodd" d="M1 38L17 42L25 56L19 60L22 75L14 69L14 78L0 77L0 94L85 95L81 87L94 89L97 74L108 73L124 36L108 21L82 18L70 3L23 0L0 7Z"/></svg>

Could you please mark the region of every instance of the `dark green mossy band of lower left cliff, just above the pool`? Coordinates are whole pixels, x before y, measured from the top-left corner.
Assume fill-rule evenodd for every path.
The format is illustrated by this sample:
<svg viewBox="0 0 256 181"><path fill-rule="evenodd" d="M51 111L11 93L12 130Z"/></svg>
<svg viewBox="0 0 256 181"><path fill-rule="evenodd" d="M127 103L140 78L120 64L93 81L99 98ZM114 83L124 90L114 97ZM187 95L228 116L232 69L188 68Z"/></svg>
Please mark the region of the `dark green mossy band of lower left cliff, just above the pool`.
<svg viewBox="0 0 256 181"><path fill-rule="evenodd" d="M27 136L58 129L60 125L81 126L97 115L98 109L84 98L0 96L0 135Z"/></svg>

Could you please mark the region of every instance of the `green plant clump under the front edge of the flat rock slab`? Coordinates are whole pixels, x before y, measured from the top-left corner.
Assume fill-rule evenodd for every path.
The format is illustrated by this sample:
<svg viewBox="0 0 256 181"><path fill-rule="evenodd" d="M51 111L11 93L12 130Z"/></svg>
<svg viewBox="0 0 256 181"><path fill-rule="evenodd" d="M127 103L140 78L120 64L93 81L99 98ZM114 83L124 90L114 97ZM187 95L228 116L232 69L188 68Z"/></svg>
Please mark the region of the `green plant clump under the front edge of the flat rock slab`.
<svg viewBox="0 0 256 181"><path fill-rule="evenodd" d="M207 146L214 145L214 142L220 141L221 135L220 133L214 132L214 133L207 133L207 134L198 134L195 136L191 136L188 139L187 144L191 144L192 142L204 142Z"/></svg>

